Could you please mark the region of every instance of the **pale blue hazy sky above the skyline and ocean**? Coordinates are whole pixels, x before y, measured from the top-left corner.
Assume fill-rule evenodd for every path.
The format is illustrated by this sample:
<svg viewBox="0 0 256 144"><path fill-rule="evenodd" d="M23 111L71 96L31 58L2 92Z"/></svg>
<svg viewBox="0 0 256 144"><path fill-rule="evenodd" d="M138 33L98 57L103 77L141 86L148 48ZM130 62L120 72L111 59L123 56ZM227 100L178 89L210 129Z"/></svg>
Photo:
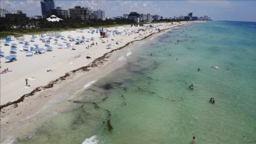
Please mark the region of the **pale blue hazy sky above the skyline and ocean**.
<svg viewBox="0 0 256 144"><path fill-rule="evenodd" d="M28 16L41 15L40 0L1 0L1 9L22 10ZM106 17L122 16L136 11L144 14L158 14L164 18L186 16L211 16L213 20L256 22L256 1L85 1L55 0L57 7L70 9L75 6L103 9Z"/></svg>

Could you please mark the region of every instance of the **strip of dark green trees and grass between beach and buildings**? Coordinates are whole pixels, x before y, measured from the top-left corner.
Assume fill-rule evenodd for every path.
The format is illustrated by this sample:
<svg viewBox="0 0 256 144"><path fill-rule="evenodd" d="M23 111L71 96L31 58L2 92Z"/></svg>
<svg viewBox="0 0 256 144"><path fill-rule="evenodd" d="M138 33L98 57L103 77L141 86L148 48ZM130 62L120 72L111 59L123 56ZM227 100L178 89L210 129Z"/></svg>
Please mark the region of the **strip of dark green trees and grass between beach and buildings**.
<svg viewBox="0 0 256 144"><path fill-rule="evenodd" d="M177 20L161 20L160 22L176 22ZM21 37L24 34L45 33L46 31L71 31L88 27L114 27L124 24L136 24L133 20L88 20L79 21L66 19L60 22L48 22L46 19L26 18L24 20L9 20L0 18L0 38L7 35ZM143 23L141 23L143 24Z"/></svg>

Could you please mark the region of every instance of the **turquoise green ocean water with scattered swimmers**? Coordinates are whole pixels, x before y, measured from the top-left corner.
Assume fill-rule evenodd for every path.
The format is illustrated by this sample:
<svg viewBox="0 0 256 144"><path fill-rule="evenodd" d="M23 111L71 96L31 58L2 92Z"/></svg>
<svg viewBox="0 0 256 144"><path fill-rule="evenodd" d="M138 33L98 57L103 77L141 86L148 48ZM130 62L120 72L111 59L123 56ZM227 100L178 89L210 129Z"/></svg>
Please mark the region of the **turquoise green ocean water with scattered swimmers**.
<svg viewBox="0 0 256 144"><path fill-rule="evenodd" d="M255 37L256 22L207 22L137 42L90 103L15 143L256 143Z"/></svg>

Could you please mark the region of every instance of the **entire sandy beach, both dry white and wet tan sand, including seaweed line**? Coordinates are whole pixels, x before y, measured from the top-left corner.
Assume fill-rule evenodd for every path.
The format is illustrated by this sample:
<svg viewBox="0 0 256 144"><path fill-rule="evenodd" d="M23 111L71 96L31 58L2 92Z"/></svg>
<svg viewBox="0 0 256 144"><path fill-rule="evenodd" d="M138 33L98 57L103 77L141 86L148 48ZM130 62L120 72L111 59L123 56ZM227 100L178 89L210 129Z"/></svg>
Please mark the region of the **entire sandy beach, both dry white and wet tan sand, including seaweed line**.
<svg viewBox="0 0 256 144"><path fill-rule="evenodd" d="M7 67L11 70L1 74L1 141L8 139L9 135L18 137L32 130L32 127L28 128L28 124L33 122L31 117L42 112L46 105L51 105L49 101L53 101L53 99L54 101L63 101L70 98L71 95L79 92L79 90L84 90L97 79L119 67L121 64L118 64L116 58L109 58L115 50L124 48L133 41L145 39L153 33L159 32L159 29L170 29L184 24L188 23L152 24L153 27L149 27L149 24L142 27L110 27L108 28L110 31L117 29L121 35L112 34L108 38L102 39L100 39L99 33L87 33L86 31L89 29L84 29L83 33L64 31L62 32L64 37L85 35L85 37L95 37L95 40L80 45L70 42L75 50L71 48L60 49L51 44L53 51L32 57L26 57L25 52L17 51L18 61L11 63L5 63L7 60L1 58L1 71ZM144 31L138 31L139 29L144 29ZM24 37L29 40L32 35L25 35ZM113 39L114 41L112 41ZM116 44L117 41L118 45ZM18 44L18 41L11 43ZM35 43L43 46L43 43L39 41L39 35L37 35ZM91 46L89 49L85 48L92 43L97 43L97 45ZM107 49L108 46L106 45L108 44L111 45L110 49ZM9 54L10 47L3 46L1 43L1 50L5 52L5 55ZM18 49L20 47L22 44L18 44ZM86 56L90 56L91 59L87 59ZM47 71L49 69L51 71ZM87 81L81 81L81 77ZM25 85L25 79L29 79L28 84L30 86ZM74 81L76 82L75 86L72 83ZM15 128L15 131L11 130L12 128Z"/></svg>

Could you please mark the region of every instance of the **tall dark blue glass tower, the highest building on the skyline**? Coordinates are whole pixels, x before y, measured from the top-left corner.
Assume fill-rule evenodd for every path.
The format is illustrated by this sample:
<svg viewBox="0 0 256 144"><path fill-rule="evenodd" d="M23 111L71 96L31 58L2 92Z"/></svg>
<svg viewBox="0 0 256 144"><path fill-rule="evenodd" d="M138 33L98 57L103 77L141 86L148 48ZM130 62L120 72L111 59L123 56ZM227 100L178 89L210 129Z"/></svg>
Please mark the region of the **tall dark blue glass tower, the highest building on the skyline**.
<svg viewBox="0 0 256 144"><path fill-rule="evenodd" d="M41 1L41 11L42 11L43 18L49 18L52 15L51 9L55 9L54 0Z"/></svg>

